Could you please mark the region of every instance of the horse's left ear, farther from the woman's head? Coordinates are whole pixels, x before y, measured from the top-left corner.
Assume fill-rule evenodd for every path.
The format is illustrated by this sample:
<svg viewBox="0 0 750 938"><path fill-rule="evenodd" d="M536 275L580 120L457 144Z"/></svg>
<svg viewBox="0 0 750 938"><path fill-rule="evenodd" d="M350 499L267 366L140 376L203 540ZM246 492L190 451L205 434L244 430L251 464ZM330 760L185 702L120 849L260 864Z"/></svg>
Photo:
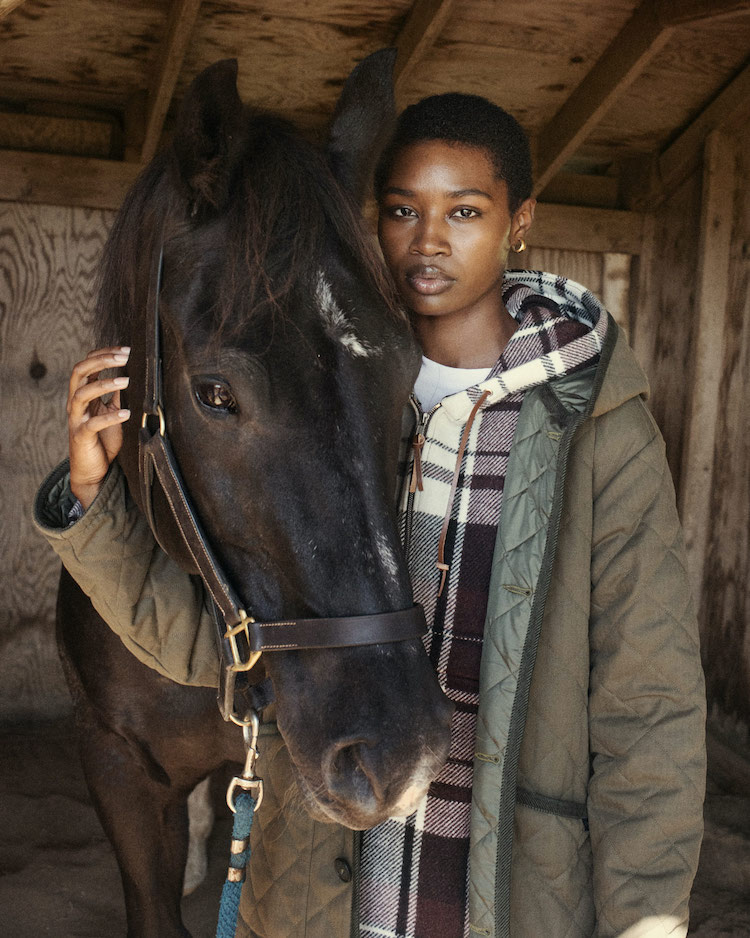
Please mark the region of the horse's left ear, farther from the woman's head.
<svg viewBox="0 0 750 938"><path fill-rule="evenodd" d="M244 126L237 60L209 65L188 88L172 141L191 214L225 206L243 150Z"/></svg>

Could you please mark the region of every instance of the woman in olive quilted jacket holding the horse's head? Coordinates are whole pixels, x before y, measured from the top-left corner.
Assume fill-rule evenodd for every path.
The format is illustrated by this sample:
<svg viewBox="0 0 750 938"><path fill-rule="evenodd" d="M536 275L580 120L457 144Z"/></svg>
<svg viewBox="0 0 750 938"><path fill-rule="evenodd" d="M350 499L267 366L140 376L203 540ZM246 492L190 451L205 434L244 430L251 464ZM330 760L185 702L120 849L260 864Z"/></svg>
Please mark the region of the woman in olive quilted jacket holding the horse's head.
<svg viewBox="0 0 750 938"><path fill-rule="evenodd" d="M376 173L380 243L424 352L405 416L404 547L456 715L418 811L363 836L363 938L687 930L705 700L674 493L645 377L611 317L564 278L505 270L530 194L523 131L467 95L408 108ZM131 575L97 566L95 534L125 524L109 471L124 379L97 375L126 355L76 366L69 492L58 471L37 504L95 603L109 576ZM73 496L86 535L54 522ZM133 610L108 610L142 660L208 683L213 637L192 616L198 651L165 660L158 622L141 621L136 643ZM352 887L341 914L321 916L321 875L313 864L291 905L278 884L246 897L245 933L278 938L297 921L343 938Z"/></svg>

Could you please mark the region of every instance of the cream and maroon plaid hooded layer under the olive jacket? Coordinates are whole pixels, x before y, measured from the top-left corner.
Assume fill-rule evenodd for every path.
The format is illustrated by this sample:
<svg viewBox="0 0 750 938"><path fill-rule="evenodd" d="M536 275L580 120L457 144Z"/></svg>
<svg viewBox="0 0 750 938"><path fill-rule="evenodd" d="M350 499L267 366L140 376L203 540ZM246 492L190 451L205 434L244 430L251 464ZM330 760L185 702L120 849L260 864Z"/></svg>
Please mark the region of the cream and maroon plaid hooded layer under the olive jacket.
<svg viewBox="0 0 750 938"><path fill-rule="evenodd" d="M519 327L489 377L451 395L428 415L414 403L426 441L423 490L400 504L401 534L414 598L431 629L428 654L440 684L456 705L448 760L419 809L393 818L362 841L361 938L468 938L468 856L479 663L492 556L502 509L508 456L525 392L598 361L606 314L592 294L541 272L506 274L504 300ZM483 391L448 506L459 443ZM405 441L402 478L411 474ZM450 564L438 597L435 566L446 511Z"/></svg>

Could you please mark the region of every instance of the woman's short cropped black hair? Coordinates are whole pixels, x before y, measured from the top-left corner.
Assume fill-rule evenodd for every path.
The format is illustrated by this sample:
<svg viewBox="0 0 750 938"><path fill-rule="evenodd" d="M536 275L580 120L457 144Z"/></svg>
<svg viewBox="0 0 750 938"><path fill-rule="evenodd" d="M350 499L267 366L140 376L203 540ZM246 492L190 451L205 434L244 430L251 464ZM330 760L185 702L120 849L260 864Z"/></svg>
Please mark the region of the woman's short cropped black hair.
<svg viewBox="0 0 750 938"><path fill-rule="evenodd" d="M450 92L422 98L401 113L375 168L376 199L380 200L401 150L428 140L486 150L498 178L508 186L511 212L531 195L531 151L518 121L487 98Z"/></svg>

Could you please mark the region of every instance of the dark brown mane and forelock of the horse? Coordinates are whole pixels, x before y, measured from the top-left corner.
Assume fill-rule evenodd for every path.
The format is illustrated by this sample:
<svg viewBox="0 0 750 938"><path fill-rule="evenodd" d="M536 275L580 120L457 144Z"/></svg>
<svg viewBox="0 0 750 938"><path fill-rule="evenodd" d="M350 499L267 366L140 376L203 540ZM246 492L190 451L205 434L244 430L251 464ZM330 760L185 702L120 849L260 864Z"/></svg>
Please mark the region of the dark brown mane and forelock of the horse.
<svg viewBox="0 0 750 938"><path fill-rule="evenodd" d="M334 242L391 314L404 318L374 239L324 156L273 115L248 111L248 120L247 146L221 212L228 237L217 239L222 256L214 257L221 276L213 291L218 299L202 310L210 334L238 333L260 309L281 314L293 291L311 293ZM165 150L123 202L99 270L96 324L103 345L129 339L138 324L152 266L149 254L160 236L176 267L174 276L181 264L194 271L205 260L196 256L191 206L178 180L174 153Z"/></svg>

